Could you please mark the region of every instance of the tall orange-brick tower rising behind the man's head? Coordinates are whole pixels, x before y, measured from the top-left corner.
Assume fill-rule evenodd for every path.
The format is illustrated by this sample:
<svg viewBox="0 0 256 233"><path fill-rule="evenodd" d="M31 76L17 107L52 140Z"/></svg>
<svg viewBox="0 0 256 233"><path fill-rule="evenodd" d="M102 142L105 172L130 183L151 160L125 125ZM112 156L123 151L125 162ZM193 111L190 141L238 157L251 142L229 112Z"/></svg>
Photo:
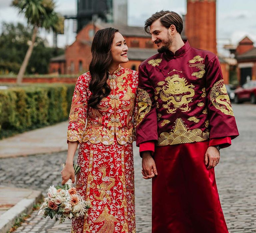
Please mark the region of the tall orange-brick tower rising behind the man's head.
<svg viewBox="0 0 256 233"><path fill-rule="evenodd" d="M187 0L185 30L192 47L217 54L216 0Z"/></svg>

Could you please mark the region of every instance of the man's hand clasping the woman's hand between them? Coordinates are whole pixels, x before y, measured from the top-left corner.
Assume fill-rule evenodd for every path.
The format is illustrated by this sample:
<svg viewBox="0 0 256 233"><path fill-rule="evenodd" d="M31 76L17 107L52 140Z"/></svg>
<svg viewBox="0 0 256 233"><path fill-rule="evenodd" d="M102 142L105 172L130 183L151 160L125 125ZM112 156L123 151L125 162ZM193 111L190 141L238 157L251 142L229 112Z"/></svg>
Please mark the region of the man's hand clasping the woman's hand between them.
<svg viewBox="0 0 256 233"><path fill-rule="evenodd" d="M157 175L156 164L151 156L151 151L142 152L142 171L144 179L151 179Z"/></svg>

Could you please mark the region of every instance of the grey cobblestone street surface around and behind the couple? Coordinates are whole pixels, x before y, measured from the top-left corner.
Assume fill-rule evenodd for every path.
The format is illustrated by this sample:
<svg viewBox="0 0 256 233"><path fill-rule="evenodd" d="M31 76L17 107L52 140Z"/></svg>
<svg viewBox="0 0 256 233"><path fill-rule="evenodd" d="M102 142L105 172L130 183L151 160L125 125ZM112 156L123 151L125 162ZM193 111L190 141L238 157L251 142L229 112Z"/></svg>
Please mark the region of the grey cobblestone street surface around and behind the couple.
<svg viewBox="0 0 256 233"><path fill-rule="evenodd" d="M256 232L256 105L233 105L240 136L233 145L221 150L216 168L217 185L230 233ZM135 157L136 227L137 233L151 232L151 181L141 178L141 159ZM0 183L42 190L61 182L61 164L66 153L0 159ZM17 233L68 233L70 221L59 225L37 216L34 211Z"/></svg>

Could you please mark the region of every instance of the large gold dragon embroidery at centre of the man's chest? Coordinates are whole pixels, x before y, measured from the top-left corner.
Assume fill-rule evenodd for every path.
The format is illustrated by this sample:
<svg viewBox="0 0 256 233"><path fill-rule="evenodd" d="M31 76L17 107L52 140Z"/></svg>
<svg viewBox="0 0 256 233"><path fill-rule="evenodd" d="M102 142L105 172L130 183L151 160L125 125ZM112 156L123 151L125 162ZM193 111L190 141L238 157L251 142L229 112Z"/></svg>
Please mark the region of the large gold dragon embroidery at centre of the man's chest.
<svg viewBox="0 0 256 233"><path fill-rule="evenodd" d="M160 91L160 98L166 104L163 104L163 108L167 109L167 113L176 113L177 109L182 112L188 112L191 108L188 106L192 102L192 97L195 95L193 90L195 86L188 85L185 78L180 78L179 75L175 74L171 77L168 76L164 81L158 83L162 86Z"/></svg>

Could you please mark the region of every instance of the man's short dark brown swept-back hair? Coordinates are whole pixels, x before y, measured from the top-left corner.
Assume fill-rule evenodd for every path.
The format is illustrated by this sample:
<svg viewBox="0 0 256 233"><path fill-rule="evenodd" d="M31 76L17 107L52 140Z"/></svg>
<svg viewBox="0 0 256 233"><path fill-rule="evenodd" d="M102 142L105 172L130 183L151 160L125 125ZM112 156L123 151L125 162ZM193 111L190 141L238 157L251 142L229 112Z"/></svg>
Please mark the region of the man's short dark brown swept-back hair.
<svg viewBox="0 0 256 233"><path fill-rule="evenodd" d="M160 19L161 24L166 28L169 28L173 24L176 27L177 32L181 34L183 29L183 21L180 15L174 11L163 10L151 15L151 17L145 21L145 32L150 34L149 27L158 19Z"/></svg>

